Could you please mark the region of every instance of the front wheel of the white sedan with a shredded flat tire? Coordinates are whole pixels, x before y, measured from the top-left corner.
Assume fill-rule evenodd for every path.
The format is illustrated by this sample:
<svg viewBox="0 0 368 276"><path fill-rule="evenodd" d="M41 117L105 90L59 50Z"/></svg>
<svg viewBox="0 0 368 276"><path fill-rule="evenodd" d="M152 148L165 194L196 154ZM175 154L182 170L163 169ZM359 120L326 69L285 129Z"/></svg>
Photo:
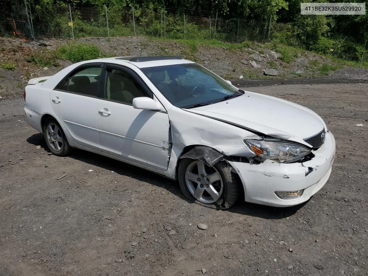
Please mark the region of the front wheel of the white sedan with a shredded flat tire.
<svg viewBox="0 0 368 276"><path fill-rule="evenodd" d="M179 164L178 178L184 196L197 204L227 209L238 198L238 177L226 162L209 167L201 160L186 158Z"/></svg>

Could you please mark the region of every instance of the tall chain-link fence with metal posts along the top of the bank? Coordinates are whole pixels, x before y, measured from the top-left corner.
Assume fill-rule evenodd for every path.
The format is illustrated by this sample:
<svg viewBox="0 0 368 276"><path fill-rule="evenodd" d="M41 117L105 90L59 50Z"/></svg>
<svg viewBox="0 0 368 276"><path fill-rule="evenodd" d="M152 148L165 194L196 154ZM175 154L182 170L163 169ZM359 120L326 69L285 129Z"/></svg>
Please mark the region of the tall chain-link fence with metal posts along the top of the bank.
<svg viewBox="0 0 368 276"><path fill-rule="evenodd" d="M29 3L29 2L28 2ZM85 38L149 36L164 39L270 42L299 47L345 60L367 61L366 41L321 37L270 17L247 20L217 13L122 8L119 6L17 6L0 15L0 36L30 38Z"/></svg>

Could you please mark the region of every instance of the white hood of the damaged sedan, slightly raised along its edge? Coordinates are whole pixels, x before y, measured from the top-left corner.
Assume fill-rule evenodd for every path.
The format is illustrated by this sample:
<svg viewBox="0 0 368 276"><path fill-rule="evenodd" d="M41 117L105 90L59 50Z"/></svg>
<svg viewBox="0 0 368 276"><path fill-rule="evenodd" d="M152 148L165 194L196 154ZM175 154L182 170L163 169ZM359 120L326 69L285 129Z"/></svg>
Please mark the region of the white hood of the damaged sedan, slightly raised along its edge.
<svg viewBox="0 0 368 276"><path fill-rule="evenodd" d="M305 138L316 135L323 128L327 130L322 118L306 107L248 91L237 98L186 110L305 145L308 145Z"/></svg>

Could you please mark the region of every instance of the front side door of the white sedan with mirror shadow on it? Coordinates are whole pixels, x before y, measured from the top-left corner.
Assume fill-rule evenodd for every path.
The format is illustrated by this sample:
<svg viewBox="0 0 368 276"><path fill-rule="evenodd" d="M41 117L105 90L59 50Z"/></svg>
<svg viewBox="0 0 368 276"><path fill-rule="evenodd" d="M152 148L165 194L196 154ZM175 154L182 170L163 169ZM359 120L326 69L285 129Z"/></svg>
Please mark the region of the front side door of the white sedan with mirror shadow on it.
<svg viewBox="0 0 368 276"><path fill-rule="evenodd" d="M98 102L102 152L167 170L169 116L166 112L134 109L135 97L153 98L134 71L107 64L105 98Z"/></svg>

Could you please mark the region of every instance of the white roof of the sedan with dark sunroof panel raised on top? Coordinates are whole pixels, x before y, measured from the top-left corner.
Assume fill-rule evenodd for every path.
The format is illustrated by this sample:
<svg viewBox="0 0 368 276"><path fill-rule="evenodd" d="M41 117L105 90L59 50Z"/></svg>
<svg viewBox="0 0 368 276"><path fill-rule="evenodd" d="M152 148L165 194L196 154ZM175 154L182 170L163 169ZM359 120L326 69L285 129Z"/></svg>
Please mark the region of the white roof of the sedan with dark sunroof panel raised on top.
<svg viewBox="0 0 368 276"><path fill-rule="evenodd" d="M107 57L103 59L88 60L88 61L85 61L85 63L89 63L92 61L93 62L108 62L108 63L114 63L114 64L120 64L120 65L124 65L124 63L130 63L134 66L137 66L138 68L195 63L193 61L182 59L181 57L177 57L177 56Z"/></svg>

